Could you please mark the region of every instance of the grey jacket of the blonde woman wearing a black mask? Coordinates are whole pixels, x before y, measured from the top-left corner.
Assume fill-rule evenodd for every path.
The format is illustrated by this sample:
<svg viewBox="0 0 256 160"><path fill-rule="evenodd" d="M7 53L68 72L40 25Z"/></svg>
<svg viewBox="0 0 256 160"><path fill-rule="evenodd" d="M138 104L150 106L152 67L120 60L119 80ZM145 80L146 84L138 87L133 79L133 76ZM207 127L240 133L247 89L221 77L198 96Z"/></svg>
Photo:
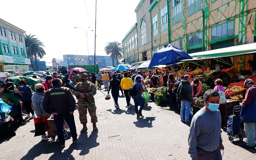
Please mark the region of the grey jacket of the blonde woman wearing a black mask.
<svg viewBox="0 0 256 160"><path fill-rule="evenodd" d="M36 116L42 115L42 117L46 116L47 113L43 109L43 98L44 94L39 93L39 92L34 92L32 95L32 104L35 109L35 114Z"/></svg>

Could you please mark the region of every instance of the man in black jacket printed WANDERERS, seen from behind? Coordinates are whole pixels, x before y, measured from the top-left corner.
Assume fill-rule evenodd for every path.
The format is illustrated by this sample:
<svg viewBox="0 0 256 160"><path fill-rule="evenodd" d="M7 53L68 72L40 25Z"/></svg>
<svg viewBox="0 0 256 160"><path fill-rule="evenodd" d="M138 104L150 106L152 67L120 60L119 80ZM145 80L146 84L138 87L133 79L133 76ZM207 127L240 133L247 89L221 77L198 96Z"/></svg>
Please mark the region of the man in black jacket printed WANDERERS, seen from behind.
<svg viewBox="0 0 256 160"><path fill-rule="evenodd" d="M54 123L57 128L60 145L65 146L64 119L68 123L73 142L77 142L76 125L74 120L74 110L76 101L69 88L61 87L62 81L54 78L51 83L53 88L46 91L43 99L43 109L54 115Z"/></svg>

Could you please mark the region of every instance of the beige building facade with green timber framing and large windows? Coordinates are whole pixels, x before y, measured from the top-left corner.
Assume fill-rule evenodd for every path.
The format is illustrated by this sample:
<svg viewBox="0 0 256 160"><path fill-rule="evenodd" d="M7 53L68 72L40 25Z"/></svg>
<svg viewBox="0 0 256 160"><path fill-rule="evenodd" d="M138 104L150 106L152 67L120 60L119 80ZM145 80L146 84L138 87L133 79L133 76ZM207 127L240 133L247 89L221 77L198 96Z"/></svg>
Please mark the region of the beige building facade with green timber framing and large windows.
<svg viewBox="0 0 256 160"><path fill-rule="evenodd" d="M166 43L196 53L256 42L255 0L141 0L135 13L136 27L122 40L126 48L137 31L133 62L150 60Z"/></svg>

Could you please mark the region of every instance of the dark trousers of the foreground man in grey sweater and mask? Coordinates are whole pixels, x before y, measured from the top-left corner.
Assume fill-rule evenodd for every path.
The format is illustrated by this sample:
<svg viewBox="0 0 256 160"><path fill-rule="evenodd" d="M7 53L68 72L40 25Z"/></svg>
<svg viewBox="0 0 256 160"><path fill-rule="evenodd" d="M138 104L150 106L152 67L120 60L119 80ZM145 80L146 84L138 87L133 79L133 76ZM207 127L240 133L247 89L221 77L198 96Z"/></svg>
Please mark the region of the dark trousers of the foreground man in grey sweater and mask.
<svg viewBox="0 0 256 160"><path fill-rule="evenodd" d="M196 153L198 160L222 160L220 148L217 148L214 151L205 151L201 148L196 148Z"/></svg>

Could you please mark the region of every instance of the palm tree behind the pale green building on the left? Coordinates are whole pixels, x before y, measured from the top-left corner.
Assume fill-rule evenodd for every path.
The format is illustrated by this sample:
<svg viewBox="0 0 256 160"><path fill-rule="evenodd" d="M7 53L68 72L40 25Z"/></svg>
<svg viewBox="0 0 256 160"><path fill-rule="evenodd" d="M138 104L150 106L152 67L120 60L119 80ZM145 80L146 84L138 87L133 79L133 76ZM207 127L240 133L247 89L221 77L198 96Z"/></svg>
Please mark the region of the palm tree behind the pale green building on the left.
<svg viewBox="0 0 256 160"><path fill-rule="evenodd" d="M44 47L43 42L39 41L38 38L34 38L34 36L35 35L25 34L24 39L25 39L26 48L28 49L27 55L28 55L28 58L30 58L31 65L32 65L32 57L34 57L35 63L36 63L36 71L38 71L39 67L37 63L37 58L43 58L43 56L46 55L46 53L43 49Z"/></svg>

